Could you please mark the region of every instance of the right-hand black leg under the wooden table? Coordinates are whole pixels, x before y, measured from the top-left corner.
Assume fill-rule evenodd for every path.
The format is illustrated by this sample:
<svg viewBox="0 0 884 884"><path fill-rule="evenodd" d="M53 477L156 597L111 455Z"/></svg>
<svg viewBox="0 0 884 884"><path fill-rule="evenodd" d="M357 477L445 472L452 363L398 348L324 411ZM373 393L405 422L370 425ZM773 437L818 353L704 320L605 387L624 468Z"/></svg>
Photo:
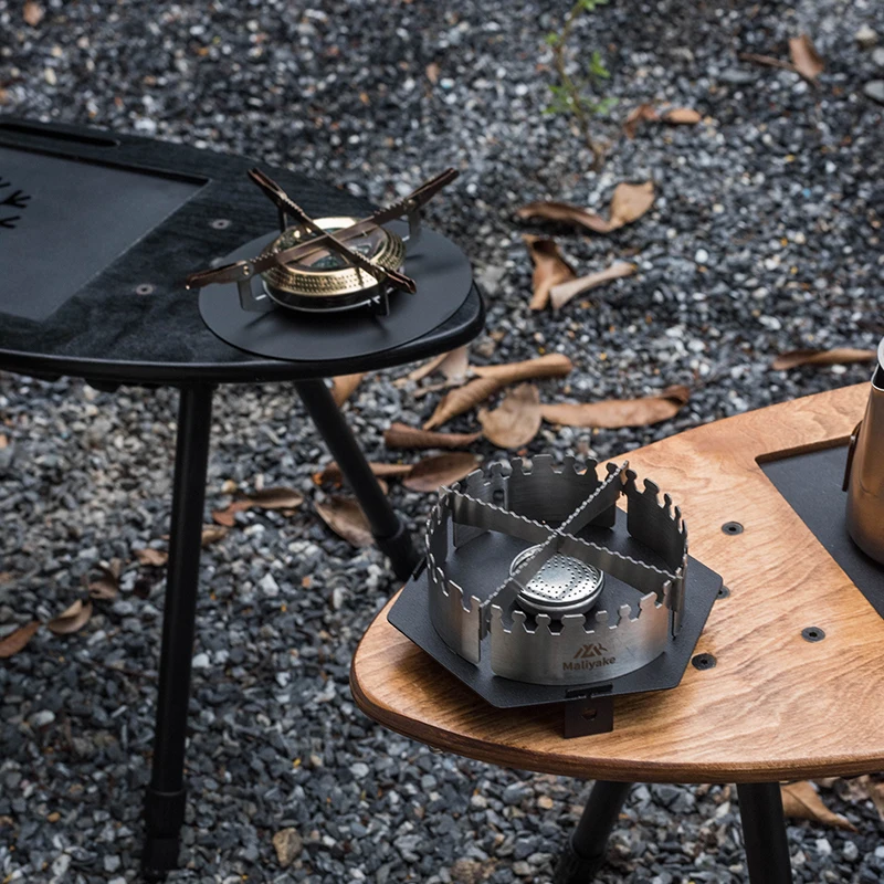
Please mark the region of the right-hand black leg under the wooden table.
<svg viewBox="0 0 884 884"><path fill-rule="evenodd" d="M792 884L778 782L737 785L743 841L751 884Z"/></svg>

